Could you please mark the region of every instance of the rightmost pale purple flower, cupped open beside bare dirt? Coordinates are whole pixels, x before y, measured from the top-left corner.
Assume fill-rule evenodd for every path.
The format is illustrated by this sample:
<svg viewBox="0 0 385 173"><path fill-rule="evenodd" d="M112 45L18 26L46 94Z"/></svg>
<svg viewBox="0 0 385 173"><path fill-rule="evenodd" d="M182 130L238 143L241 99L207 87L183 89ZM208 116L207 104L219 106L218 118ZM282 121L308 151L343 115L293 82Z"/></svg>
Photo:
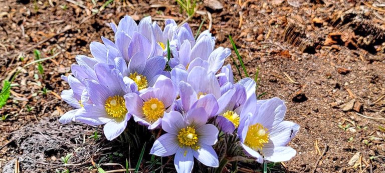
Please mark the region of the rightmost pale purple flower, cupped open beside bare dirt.
<svg viewBox="0 0 385 173"><path fill-rule="evenodd" d="M286 145L298 132L299 125L283 120L285 112L284 101L279 98L257 101L251 97L245 103L238 136L246 153L258 162L287 161L296 154Z"/></svg>

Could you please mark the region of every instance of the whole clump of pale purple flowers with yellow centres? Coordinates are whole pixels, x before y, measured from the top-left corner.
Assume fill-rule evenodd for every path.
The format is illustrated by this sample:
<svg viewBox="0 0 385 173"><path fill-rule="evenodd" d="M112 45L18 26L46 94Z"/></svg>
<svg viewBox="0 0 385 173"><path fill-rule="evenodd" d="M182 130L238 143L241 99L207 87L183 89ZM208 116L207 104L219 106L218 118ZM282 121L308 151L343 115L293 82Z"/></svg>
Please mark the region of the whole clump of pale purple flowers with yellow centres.
<svg viewBox="0 0 385 173"><path fill-rule="evenodd" d="M283 120L284 101L258 100L251 78L236 82L224 65L231 50L215 48L209 30L195 39L188 23L168 19L162 30L151 17L136 24L130 16L111 28L114 41L92 42L94 57L78 55L62 77L71 87L62 98L75 107L62 123L104 125L108 140L127 123L156 130L150 154L174 155L178 172L191 172L194 158L221 171L227 161L295 156L287 144L299 125Z"/></svg>

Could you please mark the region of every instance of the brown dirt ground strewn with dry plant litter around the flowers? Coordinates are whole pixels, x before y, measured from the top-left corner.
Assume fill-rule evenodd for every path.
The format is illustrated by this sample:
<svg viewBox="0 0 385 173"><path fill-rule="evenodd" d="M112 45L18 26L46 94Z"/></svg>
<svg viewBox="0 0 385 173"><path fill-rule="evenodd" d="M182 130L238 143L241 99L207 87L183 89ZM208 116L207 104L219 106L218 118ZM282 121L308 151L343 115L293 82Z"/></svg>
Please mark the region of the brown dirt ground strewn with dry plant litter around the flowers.
<svg viewBox="0 0 385 173"><path fill-rule="evenodd" d="M0 81L33 61L35 49L42 58L60 52L42 62L43 75L36 65L22 70L0 109L8 114L0 121L3 172L14 172L16 163L23 172L64 170L60 157L67 153L75 153L71 172L96 172L95 162L105 170L125 164L127 155L115 150L128 148L90 137L103 136L100 127L58 122L71 109L60 99L69 87L60 76L77 54L91 56L91 41L113 39L109 22L151 15L164 25L186 15L173 0L113 0L104 9L95 1L0 0ZM211 1L199 2L189 20L193 32L206 18L203 29L211 29L217 46L231 47L231 34L251 77L259 68L257 94L284 99L286 119L301 125L289 143L297 155L280 171L385 172L385 2L219 0L223 7L213 9ZM169 161L164 167L173 166Z"/></svg>

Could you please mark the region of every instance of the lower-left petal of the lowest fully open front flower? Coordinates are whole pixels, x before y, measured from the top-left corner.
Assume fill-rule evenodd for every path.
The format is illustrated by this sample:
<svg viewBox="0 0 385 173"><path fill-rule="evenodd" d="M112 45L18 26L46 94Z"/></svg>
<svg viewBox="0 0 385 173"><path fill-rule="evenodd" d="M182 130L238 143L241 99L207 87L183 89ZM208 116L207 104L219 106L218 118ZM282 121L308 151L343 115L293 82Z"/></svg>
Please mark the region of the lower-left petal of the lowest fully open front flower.
<svg viewBox="0 0 385 173"><path fill-rule="evenodd" d="M175 134L165 133L157 138L151 147L150 154L169 156L178 150L179 145Z"/></svg>

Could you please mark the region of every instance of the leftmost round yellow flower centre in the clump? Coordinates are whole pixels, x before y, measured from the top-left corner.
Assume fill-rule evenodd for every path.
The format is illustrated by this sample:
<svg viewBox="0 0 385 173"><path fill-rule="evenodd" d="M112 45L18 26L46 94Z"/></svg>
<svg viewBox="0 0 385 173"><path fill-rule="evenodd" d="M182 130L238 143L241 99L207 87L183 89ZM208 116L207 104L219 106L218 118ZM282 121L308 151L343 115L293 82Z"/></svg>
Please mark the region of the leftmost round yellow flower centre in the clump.
<svg viewBox="0 0 385 173"><path fill-rule="evenodd" d="M124 117L127 113L126 102L120 95L108 97L104 104L104 108L106 108L108 115L115 118Z"/></svg>

